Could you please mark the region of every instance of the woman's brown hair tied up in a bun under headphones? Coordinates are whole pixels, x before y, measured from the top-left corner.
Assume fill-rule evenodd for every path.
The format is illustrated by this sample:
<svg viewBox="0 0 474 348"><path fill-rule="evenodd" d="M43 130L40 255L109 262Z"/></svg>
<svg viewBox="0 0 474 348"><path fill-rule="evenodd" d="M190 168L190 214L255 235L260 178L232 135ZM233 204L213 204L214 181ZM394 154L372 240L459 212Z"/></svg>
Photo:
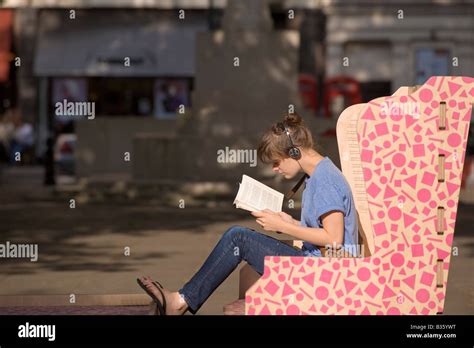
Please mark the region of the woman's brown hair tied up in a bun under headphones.
<svg viewBox="0 0 474 348"><path fill-rule="evenodd" d="M313 149L315 146L311 131L307 128L302 118L296 114L285 115L282 122L272 125L262 136L258 146L258 157L263 163L288 158L289 141L285 134L288 128L294 146L305 149Z"/></svg>

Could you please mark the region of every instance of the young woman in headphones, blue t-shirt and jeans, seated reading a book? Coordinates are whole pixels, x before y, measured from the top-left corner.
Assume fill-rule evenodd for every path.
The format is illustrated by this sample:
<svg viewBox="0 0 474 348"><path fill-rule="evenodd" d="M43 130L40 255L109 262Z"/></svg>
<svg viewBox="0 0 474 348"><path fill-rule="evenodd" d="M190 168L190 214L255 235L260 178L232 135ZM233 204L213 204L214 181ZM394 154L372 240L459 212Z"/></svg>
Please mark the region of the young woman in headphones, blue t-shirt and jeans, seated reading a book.
<svg viewBox="0 0 474 348"><path fill-rule="evenodd" d="M161 315L195 314L214 290L243 260L263 274L264 258L322 256L318 246L341 246L353 252L358 242L357 214L350 186L329 157L314 149L310 130L296 114L273 125L258 149L260 160L273 171L292 179L306 173L301 221L270 210L254 212L266 231L279 231L303 240L302 249L289 246L253 229L232 226L221 237L199 271L179 291L171 292L150 277L138 284L156 302ZM237 252L236 252L237 250ZM353 255L357 256L357 255Z"/></svg>

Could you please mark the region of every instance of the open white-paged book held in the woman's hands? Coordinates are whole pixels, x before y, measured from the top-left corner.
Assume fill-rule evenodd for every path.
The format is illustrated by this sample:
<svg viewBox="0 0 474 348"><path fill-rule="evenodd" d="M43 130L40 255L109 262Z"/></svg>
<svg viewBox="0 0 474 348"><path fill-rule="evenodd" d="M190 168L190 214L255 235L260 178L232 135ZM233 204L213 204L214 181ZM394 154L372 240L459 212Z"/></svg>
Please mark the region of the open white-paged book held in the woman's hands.
<svg viewBox="0 0 474 348"><path fill-rule="evenodd" d="M270 209L280 212L283 206L283 197L283 193L244 174L234 204L237 208L248 211Z"/></svg>

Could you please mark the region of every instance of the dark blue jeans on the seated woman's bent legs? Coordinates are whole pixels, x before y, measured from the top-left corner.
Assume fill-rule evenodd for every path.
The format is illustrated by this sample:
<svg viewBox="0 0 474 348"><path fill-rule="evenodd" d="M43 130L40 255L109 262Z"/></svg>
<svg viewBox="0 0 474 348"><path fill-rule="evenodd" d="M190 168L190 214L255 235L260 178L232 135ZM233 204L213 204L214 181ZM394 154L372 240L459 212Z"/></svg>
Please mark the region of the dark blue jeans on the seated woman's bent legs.
<svg viewBox="0 0 474 348"><path fill-rule="evenodd" d="M195 314L242 260L262 275L265 256L305 255L300 249L250 228L232 226L223 234L199 271L178 292L184 297L189 311Z"/></svg>

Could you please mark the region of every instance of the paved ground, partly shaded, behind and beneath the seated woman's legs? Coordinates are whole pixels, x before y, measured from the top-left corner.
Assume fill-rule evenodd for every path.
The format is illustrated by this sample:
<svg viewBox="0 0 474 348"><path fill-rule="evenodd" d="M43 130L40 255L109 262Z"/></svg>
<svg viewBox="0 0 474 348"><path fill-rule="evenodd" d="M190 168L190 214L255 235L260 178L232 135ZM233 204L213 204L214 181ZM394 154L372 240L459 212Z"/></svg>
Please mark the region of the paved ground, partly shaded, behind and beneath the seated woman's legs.
<svg viewBox="0 0 474 348"><path fill-rule="evenodd" d="M2 184L3 183L3 184ZM0 181L0 242L38 243L38 262L0 260L1 295L138 294L136 277L149 274L172 290L202 265L234 224L257 226L248 214L221 208L166 208L156 204L78 204L44 199L41 170L7 170ZM447 290L446 314L474 314L474 206L460 205ZM124 248L130 248L130 256ZM236 299L234 272L198 314L221 314ZM30 307L28 313L146 314L146 307ZM0 308L19 314L25 308ZM80 310L79 310L80 311ZM45 313L46 314L46 313Z"/></svg>

